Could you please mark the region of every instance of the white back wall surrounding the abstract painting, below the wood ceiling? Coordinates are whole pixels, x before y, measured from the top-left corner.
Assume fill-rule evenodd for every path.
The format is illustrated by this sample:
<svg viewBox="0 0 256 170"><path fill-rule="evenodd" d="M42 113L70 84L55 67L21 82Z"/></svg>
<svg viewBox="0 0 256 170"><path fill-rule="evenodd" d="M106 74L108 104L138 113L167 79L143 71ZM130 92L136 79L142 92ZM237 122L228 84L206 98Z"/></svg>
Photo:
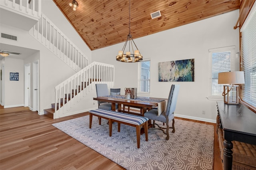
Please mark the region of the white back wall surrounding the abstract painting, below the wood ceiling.
<svg viewBox="0 0 256 170"><path fill-rule="evenodd" d="M208 97L209 49L235 45L239 52L239 30L233 27L239 10L135 39L144 58L151 59L151 97L167 98L172 84L180 84L175 114L202 121L216 121L216 101ZM115 66L115 87L138 86L138 63L116 61L119 43L92 51L93 61ZM194 82L158 82L158 62L195 59ZM124 91L121 92L124 94ZM202 111L205 111L205 115Z"/></svg>

